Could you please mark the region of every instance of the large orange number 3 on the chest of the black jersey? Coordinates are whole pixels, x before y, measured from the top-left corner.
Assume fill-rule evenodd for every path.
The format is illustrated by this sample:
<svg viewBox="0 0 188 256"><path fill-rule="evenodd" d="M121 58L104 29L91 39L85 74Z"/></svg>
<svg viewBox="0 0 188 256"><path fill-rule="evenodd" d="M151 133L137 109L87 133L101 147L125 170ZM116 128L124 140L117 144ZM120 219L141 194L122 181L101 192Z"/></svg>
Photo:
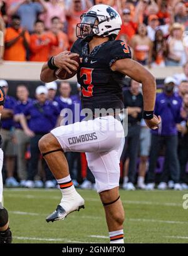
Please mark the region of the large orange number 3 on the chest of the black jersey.
<svg viewBox="0 0 188 256"><path fill-rule="evenodd" d="M93 68L81 68L80 69L80 78L83 75L86 76L86 79L83 80L83 83L87 86L87 88L82 88L81 92L84 97L91 97L93 96L93 86L92 85L92 72Z"/></svg>

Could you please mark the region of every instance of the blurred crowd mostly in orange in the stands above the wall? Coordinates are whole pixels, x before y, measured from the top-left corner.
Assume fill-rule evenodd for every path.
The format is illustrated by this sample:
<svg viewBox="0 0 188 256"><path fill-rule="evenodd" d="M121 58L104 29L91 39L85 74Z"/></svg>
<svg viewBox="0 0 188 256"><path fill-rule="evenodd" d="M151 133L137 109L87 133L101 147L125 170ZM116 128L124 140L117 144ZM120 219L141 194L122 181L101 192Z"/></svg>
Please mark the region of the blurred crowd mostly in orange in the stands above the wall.
<svg viewBox="0 0 188 256"><path fill-rule="evenodd" d="M122 16L118 39L149 67L182 66L188 55L187 0L0 0L2 58L46 61L70 50L80 15L93 4L109 4Z"/></svg>

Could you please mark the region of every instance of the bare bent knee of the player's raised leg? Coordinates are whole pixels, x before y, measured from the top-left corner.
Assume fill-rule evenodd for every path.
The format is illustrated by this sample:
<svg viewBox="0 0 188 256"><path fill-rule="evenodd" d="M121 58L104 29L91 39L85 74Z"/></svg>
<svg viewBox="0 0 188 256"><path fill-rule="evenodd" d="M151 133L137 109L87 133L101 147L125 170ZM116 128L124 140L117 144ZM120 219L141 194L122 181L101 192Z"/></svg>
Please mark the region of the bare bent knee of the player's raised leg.
<svg viewBox="0 0 188 256"><path fill-rule="evenodd" d="M38 146L41 152L47 152L61 147L56 138L50 133L41 137Z"/></svg>

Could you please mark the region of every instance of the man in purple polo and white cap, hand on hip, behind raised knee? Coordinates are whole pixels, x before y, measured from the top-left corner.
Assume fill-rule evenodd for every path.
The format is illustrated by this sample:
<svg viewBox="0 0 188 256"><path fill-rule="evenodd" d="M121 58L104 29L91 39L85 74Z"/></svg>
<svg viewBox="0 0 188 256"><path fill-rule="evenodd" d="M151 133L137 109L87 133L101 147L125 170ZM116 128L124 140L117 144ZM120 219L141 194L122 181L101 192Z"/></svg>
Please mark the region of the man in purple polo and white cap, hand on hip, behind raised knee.
<svg viewBox="0 0 188 256"><path fill-rule="evenodd" d="M28 188L33 188L34 178L38 173L38 161L40 155L38 147L39 139L55 127L55 117L57 119L60 114L59 109L53 105L53 102L47 100L47 95L48 90L45 86L41 85L37 87L36 100L28 104L23 115L20 115L19 117L24 132L31 137L31 159L28 167L28 180L25 185ZM27 124L26 117L28 116L30 119ZM54 188L55 184L53 183L53 175L45 162L44 169L46 174L45 187Z"/></svg>

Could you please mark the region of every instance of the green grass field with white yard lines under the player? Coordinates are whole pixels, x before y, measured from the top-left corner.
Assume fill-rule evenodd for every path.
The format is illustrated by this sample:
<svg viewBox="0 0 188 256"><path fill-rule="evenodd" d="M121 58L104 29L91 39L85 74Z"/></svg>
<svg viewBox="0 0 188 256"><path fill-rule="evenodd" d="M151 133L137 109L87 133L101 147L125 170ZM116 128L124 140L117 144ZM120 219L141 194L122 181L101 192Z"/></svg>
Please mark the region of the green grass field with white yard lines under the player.
<svg viewBox="0 0 188 256"><path fill-rule="evenodd" d="M60 202L58 189L4 189L14 243L108 243L103 206L96 191L79 190L85 210L46 223ZM188 191L120 191L126 212L125 243L188 243Z"/></svg>

